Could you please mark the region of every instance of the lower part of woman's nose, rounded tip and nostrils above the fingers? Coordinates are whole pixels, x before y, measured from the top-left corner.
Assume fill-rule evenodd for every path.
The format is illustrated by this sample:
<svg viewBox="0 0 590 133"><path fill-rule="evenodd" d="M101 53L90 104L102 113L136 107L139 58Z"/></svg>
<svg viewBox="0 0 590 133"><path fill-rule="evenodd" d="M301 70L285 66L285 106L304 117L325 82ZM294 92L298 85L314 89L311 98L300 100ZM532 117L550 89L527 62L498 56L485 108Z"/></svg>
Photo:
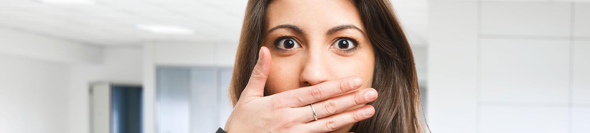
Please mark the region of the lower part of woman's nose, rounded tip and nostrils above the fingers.
<svg viewBox="0 0 590 133"><path fill-rule="evenodd" d="M310 52L312 53L312 52ZM313 52L321 53L321 52ZM303 71L299 81L303 86L313 86L329 79L329 71L326 67L326 60L322 54L308 54L307 61L304 63Z"/></svg>

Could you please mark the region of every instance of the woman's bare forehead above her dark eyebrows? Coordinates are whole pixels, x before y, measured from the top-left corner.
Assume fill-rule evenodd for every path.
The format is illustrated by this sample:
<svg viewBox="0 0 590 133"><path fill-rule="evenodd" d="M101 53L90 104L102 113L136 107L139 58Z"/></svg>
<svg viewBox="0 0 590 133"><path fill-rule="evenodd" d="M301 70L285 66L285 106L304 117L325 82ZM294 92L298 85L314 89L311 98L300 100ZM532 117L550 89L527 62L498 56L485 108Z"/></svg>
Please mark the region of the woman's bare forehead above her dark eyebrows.
<svg viewBox="0 0 590 133"><path fill-rule="evenodd" d="M267 6L265 30L278 25L296 25L304 30L355 25L363 29L360 13L352 0L277 0Z"/></svg>

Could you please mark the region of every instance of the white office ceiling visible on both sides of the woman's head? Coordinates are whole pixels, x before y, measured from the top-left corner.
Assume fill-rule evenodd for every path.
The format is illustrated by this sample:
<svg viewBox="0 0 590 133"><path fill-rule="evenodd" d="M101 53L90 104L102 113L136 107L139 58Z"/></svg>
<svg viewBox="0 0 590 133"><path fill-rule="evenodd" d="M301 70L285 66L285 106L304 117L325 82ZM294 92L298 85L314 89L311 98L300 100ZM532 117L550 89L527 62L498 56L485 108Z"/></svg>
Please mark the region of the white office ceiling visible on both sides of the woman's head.
<svg viewBox="0 0 590 133"><path fill-rule="evenodd" d="M237 42L245 0L96 0L90 5L0 0L0 28L31 32L91 45L143 42ZM392 0L414 45L425 45L427 0ZM137 25L174 25L192 35L161 35Z"/></svg>

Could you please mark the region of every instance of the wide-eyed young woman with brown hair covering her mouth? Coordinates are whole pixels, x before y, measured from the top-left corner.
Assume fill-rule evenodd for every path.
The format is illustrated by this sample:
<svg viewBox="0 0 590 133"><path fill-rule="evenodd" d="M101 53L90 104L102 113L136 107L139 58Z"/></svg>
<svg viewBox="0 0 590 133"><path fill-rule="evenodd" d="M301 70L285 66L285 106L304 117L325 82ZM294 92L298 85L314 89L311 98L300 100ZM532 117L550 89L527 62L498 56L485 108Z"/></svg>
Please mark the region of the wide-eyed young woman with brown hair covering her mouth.
<svg viewBox="0 0 590 133"><path fill-rule="evenodd" d="M389 0L248 1L218 132L425 132Z"/></svg>

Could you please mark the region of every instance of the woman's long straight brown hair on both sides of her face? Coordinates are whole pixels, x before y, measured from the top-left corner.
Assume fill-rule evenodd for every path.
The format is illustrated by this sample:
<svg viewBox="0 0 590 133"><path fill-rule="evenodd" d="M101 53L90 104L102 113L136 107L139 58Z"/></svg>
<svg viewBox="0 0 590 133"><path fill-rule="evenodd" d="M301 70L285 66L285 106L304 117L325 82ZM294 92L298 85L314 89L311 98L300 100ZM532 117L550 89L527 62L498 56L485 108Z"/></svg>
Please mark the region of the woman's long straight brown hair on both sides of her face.
<svg viewBox="0 0 590 133"><path fill-rule="evenodd" d="M269 0L250 0L230 84L230 98L240 99L257 61ZM356 123L351 132L425 132L414 56L389 0L359 0L356 6L375 51L372 87L379 93L368 103L373 117Z"/></svg>

